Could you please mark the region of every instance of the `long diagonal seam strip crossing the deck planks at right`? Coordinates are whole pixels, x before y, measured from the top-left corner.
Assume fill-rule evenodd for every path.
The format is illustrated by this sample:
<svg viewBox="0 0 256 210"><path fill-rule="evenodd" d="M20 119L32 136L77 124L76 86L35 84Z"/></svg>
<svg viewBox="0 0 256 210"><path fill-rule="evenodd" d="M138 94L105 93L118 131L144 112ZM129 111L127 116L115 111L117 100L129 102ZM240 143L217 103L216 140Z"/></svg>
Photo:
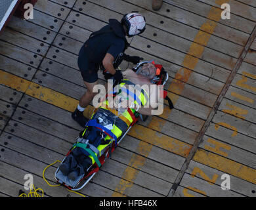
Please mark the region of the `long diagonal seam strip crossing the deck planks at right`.
<svg viewBox="0 0 256 210"><path fill-rule="evenodd" d="M205 135L205 132L207 131L207 128L209 127L209 124L211 123L211 120L213 119L213 116L217 112L224 96L226 95L226 92L228 91L228 87L230 87L230 84L232 83L234 76L240 69L240 66L242 65L242 62L244 61L244 58L245 58L247 52L249 51L249 48L251 47L251 44L253 43L255 36L256 36L256 26L253 28L253 31L251 32L251 35L250 35L249 39L247 40L247 43L245 44L245 47L244 47L242 53L240 54L240 57L238 58L236 65L234 66L232 72L228 76L228 79L226 80L226 83L225 83L220 95L218 96L217 100L215 101L215 104L214 104L209 116L207 117L205 123L203 124L203 127L202 127L200 133L198 134L198 137L196 137L194 145L193 145L192 149L190 150L188 157L184 161L181 171L179 172L173 186L171 187L168 196L170 196L170 197L174 196L175 191L177 190L179 184L181 183L182 177L184 176L184 173L185 173L186 169L188 168L190 161L196 154L196 150L198 150L199 144L200 144L200 142L202 142L203 136Z"/></svg>

